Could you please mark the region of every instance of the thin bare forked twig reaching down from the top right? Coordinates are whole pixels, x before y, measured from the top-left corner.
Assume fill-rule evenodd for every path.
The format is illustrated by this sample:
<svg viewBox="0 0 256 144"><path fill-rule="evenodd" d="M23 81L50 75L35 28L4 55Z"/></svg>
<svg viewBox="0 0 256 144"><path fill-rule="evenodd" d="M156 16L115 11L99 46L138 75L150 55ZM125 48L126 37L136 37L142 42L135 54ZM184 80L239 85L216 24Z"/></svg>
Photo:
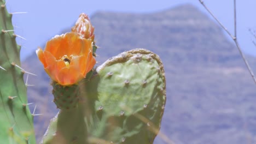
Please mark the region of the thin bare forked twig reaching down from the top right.
<svg viewBox="0 0 256 144"><path fill-rule="evenodd" d="M217 17L213 15L213 13L211 12L211 10L208 9L208 7L206 7L205 3L203 3L202 0L199 0L199 2L200 2L200 3L203 5L203 7L208 11L208 13L214 18L214 20L216 20L216 21L219 23L219 25L225 30L225 32L228 33L229 36L234 40L234 42L235 42L235 44L236 44L236 47L237 47L237 49L238 49L240 55L242 56L243 61L245 62L246 67L247 67L247 69L249 70L249 73L251 74L251 76L252 76L252 78L253 78L254 83L256 84L256 79L255 79L255 76L254 76L254 74L253 74L253 71L252 71L252 69L251 69L249 63L247 62L245 56L243 55L243 52L242 52L242 50L241 50L241 47L240 47L240 45L239 45L239 43L238 43L238 41L237 41L237 36L236 36L236 29L237 29L237 28L236 28L236 0L234 0L234 28L235 28L235 35L232 35L232 34L228 31L228 29L217 19Z"/></svg>

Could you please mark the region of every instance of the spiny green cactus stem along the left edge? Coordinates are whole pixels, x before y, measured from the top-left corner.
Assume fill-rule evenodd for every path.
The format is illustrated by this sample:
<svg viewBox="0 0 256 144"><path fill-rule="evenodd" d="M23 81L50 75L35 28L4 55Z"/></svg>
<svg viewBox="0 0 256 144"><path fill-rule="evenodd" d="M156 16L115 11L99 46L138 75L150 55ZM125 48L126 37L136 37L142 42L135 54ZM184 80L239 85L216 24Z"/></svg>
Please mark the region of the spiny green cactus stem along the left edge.
<svg viewBox="0 0 256 144"><path fill-rule="evenodd" d="M33 116L27 106L20 49L11 14L0 0L0 143L36 143Z"/></svg>

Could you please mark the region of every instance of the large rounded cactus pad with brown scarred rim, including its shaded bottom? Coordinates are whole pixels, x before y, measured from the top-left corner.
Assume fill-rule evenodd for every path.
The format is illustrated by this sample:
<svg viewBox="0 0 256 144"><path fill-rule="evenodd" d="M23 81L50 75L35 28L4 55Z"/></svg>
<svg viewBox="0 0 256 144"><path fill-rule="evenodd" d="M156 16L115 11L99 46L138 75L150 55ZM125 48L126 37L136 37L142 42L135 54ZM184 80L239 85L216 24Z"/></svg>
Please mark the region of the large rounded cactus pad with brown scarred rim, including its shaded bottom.
<svg viewBox="0 0 256 144"><path fill-rule="evenodd" d="M152 143L166 101L160 58L135 49L108 59L96 71L86 85L98 99L95 109L101 119L96 129L88 129L92 136L113 143Z"/></svg>

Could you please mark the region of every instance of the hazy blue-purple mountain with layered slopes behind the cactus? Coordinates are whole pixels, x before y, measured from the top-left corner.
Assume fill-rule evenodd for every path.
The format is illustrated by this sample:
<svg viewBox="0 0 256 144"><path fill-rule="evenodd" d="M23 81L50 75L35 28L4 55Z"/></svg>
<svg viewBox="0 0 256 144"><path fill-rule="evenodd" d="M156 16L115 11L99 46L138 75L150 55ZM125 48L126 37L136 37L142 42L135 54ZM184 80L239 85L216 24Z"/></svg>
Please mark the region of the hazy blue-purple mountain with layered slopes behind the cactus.
<svg viewBox="0 0 256 144"><path fill-rule="evenodd" d="M222 29L193 5L151 14L98 12L98 65L118 53L145 48L157 53L167 79L161 132L176 144L256 143L256 90L238 50ZM248 57L256 65L253 57ZM50 79L36 53L23 67L30 76L29 101L37 104L40 139L54 117ZM33 107L32 107L33 109ZM165 143L158 136L154 143Z"/></svg>

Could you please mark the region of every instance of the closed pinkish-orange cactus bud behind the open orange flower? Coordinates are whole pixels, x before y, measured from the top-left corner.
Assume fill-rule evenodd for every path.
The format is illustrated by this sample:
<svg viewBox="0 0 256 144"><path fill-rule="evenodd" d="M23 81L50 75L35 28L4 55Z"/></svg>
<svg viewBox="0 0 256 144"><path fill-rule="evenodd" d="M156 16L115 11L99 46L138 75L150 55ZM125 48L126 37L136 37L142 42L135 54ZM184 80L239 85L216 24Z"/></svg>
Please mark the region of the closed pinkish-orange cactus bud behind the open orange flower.
<svg viewBox="0 0 256 144"><path fill-rule="evenodd" d="M80 34L85 39L94 41L94 27L91 25L88 15L84 13L79 15L75 26L72 27L72 32Z"/></svg>

